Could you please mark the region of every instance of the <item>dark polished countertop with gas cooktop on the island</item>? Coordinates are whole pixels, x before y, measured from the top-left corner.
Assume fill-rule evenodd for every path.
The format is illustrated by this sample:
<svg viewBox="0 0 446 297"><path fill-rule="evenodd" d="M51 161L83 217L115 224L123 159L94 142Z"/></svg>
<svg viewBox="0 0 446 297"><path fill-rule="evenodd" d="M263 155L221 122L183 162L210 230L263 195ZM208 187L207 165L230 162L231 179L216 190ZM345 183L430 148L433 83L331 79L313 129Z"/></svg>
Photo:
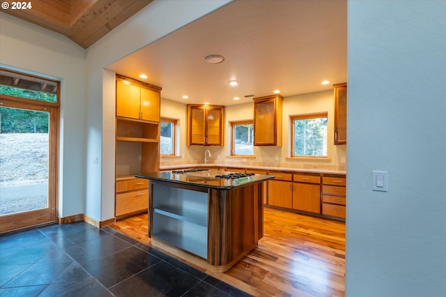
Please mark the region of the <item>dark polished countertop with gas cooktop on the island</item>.
<svg viewBox="0 0 446 297"><path fill-rule="evenodd" d="M146 178L153 181L168 181L183 185L198 185L203 188L212 188L219 190L230 190L241 188L252 183L260 183L274 178L272 175L254 174L237 179L217 178L215 176L229 174L230 172L220 171L201 171L201 172L148 172L136 174L135 177Z"/></svg>

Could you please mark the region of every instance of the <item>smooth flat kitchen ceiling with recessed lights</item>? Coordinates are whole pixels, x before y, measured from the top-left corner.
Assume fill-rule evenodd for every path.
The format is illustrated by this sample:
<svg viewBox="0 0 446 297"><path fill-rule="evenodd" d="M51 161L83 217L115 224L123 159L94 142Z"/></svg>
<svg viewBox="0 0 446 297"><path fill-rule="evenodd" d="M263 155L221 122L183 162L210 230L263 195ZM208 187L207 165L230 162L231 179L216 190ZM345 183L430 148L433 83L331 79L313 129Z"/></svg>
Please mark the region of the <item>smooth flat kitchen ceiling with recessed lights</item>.
<svg viewBox="0 0 446 297"><path fill-rule="evenodd" d="M206 63L209 54L225 60ZM275 89L284 97L329 90L347 80L347 3L236 0L109 69L161 86L162 98L183 103L233 105ZM231 79L239 85L229 86ZM325 79L330 84L321 85Z"/></svg>

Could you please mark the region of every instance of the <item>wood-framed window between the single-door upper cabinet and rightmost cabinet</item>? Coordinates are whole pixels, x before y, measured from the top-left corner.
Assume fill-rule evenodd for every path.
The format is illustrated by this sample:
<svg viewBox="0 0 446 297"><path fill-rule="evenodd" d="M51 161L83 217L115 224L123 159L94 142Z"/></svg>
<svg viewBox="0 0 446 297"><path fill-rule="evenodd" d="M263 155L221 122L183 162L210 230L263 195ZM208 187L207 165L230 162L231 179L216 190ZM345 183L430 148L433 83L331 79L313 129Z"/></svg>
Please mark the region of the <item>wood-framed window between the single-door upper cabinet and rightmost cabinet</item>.
<svg viewBox="0 0 446 297"><path fill-rule="evenodd" d="M327 157L327 113L291 116L291 157Z"/></svg>

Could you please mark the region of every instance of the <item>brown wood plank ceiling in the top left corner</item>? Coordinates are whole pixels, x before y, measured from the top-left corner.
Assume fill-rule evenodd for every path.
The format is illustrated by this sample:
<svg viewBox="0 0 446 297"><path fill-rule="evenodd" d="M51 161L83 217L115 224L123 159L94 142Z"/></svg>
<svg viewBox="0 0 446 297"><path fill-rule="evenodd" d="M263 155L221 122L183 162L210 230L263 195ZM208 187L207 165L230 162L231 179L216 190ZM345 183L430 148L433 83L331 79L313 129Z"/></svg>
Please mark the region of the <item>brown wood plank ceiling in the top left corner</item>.
<svg viewBox="0 0 446 297"><path fill-rule="evenodd" d="M86 49L153 0L33 0L3 12L61 33Z"/></svg>

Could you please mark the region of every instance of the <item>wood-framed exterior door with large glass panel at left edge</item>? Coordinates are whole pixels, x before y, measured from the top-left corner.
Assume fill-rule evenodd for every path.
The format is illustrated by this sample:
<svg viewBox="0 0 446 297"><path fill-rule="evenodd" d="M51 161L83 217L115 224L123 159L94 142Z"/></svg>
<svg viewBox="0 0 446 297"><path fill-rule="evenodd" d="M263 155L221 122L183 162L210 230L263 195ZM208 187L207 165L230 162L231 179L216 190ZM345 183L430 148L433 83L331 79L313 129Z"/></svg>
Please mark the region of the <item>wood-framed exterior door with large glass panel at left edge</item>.
<svg viewBox="0 0 446 297"><path fill-rule="evenodd" d="M0 85L0 233L57 220L59 107L14 96Z"/></svg>

